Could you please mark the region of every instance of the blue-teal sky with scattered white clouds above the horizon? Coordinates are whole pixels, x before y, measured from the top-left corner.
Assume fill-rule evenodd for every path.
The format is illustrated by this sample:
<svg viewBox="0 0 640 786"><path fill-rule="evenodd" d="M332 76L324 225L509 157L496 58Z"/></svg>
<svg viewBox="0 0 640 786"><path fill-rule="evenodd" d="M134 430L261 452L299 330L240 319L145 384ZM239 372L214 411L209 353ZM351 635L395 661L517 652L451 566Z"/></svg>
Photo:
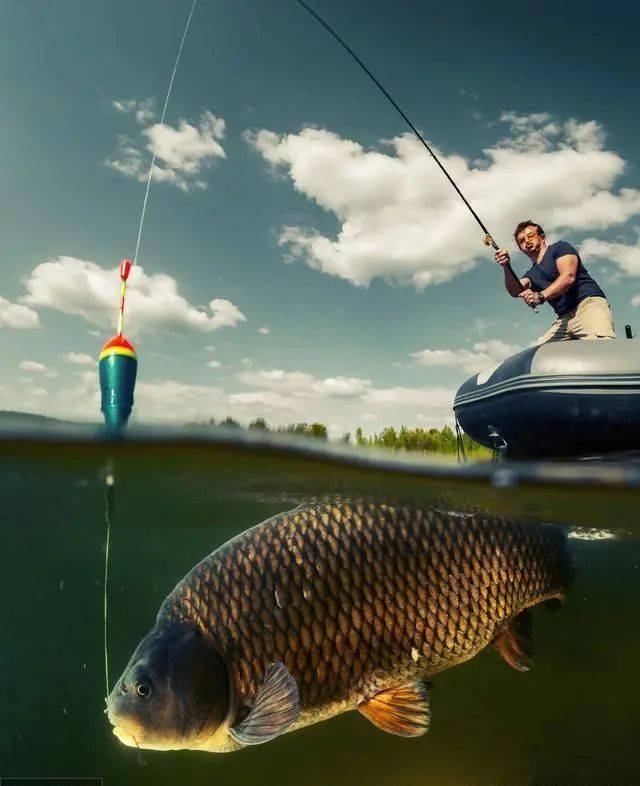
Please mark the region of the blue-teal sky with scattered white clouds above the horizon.
<svg viewBox="0 0 640 786"><path fill-rule="evenodd" d="M100 419L97 357L139 356L132 422L442 426L471 374L553 318L502 287L433 160L293 0L0 0L0 409ZM313 0L500 245L576 245L640 329L636 4Z"/></svg>

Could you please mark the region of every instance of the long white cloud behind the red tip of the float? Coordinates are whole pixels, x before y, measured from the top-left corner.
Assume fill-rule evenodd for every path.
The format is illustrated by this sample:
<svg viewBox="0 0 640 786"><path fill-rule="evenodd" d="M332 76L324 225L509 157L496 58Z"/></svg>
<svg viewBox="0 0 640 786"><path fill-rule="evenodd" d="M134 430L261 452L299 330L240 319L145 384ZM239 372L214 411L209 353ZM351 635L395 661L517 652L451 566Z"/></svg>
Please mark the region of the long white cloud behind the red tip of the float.
<svg viewBox="0 0 640 786"><path fill-rule="evenodd" d="M94 262L60 256L34 268L25 282L28 294L23 301L113 328L119 283L117 268L109 270ZM192 306L178 292L176 280L164 273L147 275L136 266L129 284L126 326L132 334L162 330L207 333L246 321L238 307L224 298L214 298L208 309Z"/></svg>

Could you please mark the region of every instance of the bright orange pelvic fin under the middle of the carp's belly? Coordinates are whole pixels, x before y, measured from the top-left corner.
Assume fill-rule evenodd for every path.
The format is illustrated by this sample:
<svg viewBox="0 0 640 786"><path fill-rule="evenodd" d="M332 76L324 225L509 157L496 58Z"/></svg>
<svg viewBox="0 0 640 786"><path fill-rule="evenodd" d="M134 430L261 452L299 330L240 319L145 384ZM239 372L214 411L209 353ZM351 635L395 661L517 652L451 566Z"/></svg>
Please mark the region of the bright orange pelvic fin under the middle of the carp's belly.
<svg viewBox="0 0 640 786"><path fill-rule="evenodd" d="M358 709L379 729L401 737L419 737L431 720L427 685L422 680L380 691Z"/></svg>

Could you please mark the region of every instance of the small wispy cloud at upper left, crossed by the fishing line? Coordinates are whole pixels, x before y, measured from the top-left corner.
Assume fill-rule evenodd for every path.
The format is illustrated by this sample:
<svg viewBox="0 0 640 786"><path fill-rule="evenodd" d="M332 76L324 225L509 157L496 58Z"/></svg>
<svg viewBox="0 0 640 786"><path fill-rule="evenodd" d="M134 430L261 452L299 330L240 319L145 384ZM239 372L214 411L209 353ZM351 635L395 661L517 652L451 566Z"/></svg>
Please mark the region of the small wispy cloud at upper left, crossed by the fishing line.
<svg viewBox="0 0 640 786"><path fill-rule="evenodd" d="M205 170L226 153L219 140L224 139L225 122L211 112L203 112L192 125L180 120L177 128L154 123L142 131L140 144L127 136L118 137L115 155L105 163L127 177L146 181L155 150L153 179L172 183L184 192L192 188L207 188L201 179Z"/></svg>

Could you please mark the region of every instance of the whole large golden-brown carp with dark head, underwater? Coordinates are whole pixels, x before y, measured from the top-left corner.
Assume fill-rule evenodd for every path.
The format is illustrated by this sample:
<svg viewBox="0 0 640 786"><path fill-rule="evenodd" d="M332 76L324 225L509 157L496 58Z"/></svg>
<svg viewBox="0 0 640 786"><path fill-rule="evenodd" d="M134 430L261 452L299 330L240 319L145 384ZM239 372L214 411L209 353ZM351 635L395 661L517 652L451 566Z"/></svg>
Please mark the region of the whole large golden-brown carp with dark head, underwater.
<svg viewBox="0 0 640 786"><path fill-rule="evenodd" d="M563 598L548 524L320 500L238 535L166 598L108 700L125 744L230 751L358 709L424 733L425 678L487 644L533 662L530 607Z"/></svg>

